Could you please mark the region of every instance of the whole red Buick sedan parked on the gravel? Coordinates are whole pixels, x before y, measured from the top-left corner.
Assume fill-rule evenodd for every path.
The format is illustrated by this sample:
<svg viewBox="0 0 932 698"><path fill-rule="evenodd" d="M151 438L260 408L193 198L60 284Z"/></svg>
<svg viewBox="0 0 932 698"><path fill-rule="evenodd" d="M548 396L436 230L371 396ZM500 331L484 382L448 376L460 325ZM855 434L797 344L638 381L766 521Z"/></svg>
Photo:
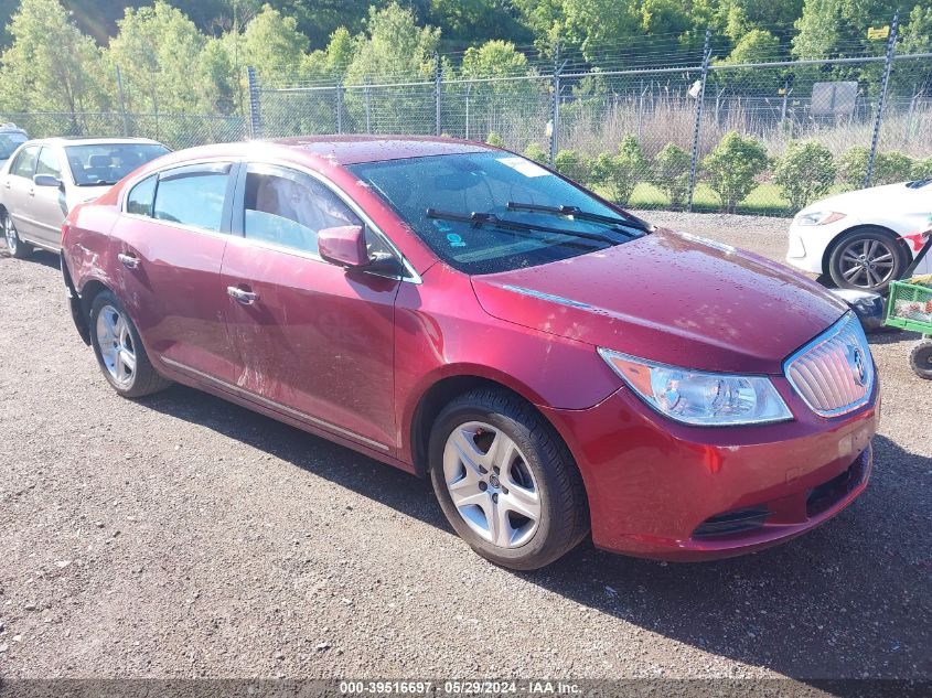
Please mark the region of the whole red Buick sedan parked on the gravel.
<svg viewBox="0 0 932 698"><path fill-rule="evenodd" d="M430 476L515 569L781 543L865 488L878 385L818 286L432 138L199 148L64 226L72 312L129 398L183 383Z"/></svg>

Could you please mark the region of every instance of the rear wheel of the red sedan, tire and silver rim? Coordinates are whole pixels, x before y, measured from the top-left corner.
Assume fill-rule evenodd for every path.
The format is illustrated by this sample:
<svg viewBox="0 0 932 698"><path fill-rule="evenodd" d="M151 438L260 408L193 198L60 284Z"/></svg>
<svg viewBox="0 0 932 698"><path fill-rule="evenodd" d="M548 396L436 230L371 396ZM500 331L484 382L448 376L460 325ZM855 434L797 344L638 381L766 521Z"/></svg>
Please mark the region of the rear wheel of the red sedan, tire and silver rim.
<svg viewBox="0 0 932 698"><path fill-rule="evenodd" d="M90 304L90 344L104 377L118 395L138 398L171 385L152 367L136 325L110 291L100 291Z"/></svg>

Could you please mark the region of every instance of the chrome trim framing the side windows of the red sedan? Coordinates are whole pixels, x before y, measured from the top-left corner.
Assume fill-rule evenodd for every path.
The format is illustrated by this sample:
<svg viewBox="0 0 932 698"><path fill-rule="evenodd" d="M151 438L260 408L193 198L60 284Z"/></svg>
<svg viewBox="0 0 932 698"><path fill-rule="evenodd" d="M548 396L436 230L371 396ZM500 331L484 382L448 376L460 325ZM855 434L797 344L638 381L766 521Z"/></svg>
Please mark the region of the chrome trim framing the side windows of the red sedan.
<svg viewBox="0 0 932 698"><path fill-rule="evenodd" d="M386 244L386 246L392 251L392 254L394 254L401 261L401 266L405 268L405 271L407 272L407 276L388 276L388 275L381 275L381 273L372 275L372 276L377 276L377 277L382 277L382 278L386 278L386 279L395 279L396 281L405 281L406 283L414 283L416 286L420 286L421 283L424 283L424 279L421 279L420 275L414 268L411 262L408 261L408 258L405 257L405 255L401 253L400 249L398 249L398 246L395 245L395 243L392 240L392 238L389 238L382 230L382 228L379 228L373 222L373 219L368 216L368 214L366 214L365 211L363 211L363 208L355 201L353 201L353 198L349 194L346 194L346 192L344 192L340 186L334 184L332 180L324 176L320 172L311 170L307 165L302 165L302 164L298 164L298 163L293 163L293 162L287 162L287 161L282 162L282 161L270 160L270 159L265 159L265 158L251 159L251 158L244 158L244 157L236 157L236 158L216 157L216 158L202 158L202 159L197 159L197 160L193 160L193 161L188 161L188 162L184 162L184 163L173 163L171 165L168 165L165 168L158 169L158 170L147 170L146 172L136 175L135 178L129 180L124 185L122 190L120 191L120 198L119 198L120 213L124 216L127 216L127 217L130 217L130 218L138 218L140 221L159 221L158 218L154 218L154 217L128 213L127 210L126 210L126 202L127 202L127 196L129 195L129 192L137 184L139 184L142 180L144 180L146 178L148 178L152 174L159 175L162 172L165 172L168 170L173 170L175 168L189 167L189 165L199 165L199 164L213 164L215 162L232 162L234 164L238 163L238 164L242 164L242 165L245 165L245 167L248 167L250 163L274 165L274 167L277 167L277 168L283 168L286 170L293 170L294 172L300 172L302 174L307 174L308 176L315 179L318 182L320 182L321 184L323 184L324 186L330 189L334 194L336 194L336 196L344 204L346 204L346 206L349 206L350 210L353 211L353 213L355 213L363 221L363 223L365 223L366 226L369 229L372 229L372 232L375 233ZM182 229L185 229L185 230L190 230L192 233L203 233L203 234L207 234L207 235L221 235L221 236L223 236L224 238L227 238L227 239L231 238L231 237L239 237L243 240L245 240L249 244L253 244L253 245L256 245L258 243L258 240L256 240L255 238L250 239L250 238L247 238L243 235L234 235L232 233L219 233L219 232L215 233L213 230L205 230L203 228L197 228L195 226L185 226L185 225L174 224L174 225L172 225L172 227L182 228ZM301 257L303 259L311 259L311 260L314 260L314 261L329 264L329 262L325 262L320 256L313 255L312 253L303 253L302 250L299 250L299 249L292 249L290 247L283 247L283 246L277 246L277 245L276 246L258 245L258 246L266 248L266 249L271 249L274 251L281 251L281 253L291 254L291 255L294 255L296 257ZM371 272L366 272L366 273L371 273Z"/></svg>

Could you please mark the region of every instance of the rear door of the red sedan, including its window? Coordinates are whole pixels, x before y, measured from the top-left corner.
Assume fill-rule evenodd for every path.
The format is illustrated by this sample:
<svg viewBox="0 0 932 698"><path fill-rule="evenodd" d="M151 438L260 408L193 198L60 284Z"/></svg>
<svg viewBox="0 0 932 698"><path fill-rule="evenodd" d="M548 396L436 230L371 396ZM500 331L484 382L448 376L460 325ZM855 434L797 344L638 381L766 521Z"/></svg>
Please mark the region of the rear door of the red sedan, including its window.
<svg viewBox="0 0 932 698"><path fill-rule="evenodd" d="M111 254L120 298L150 355L194 378L233 378L219 270L236 167L164 170L127 194Z"/></svg>

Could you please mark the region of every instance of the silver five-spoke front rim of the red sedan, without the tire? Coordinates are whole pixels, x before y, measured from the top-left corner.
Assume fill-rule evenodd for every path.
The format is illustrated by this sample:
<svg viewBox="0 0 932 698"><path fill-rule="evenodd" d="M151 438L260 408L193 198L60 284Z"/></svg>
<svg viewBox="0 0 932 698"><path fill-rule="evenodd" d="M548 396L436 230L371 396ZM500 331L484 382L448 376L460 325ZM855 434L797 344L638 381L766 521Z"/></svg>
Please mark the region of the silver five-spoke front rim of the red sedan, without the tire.
<svg viewBox="0 0 932 698"><path fill-rule="evenodd" d="M517 444L491 425L458 426L443 449L443 480L463 522L484 540L516 548L536 533L540 491Z"/></svg>

